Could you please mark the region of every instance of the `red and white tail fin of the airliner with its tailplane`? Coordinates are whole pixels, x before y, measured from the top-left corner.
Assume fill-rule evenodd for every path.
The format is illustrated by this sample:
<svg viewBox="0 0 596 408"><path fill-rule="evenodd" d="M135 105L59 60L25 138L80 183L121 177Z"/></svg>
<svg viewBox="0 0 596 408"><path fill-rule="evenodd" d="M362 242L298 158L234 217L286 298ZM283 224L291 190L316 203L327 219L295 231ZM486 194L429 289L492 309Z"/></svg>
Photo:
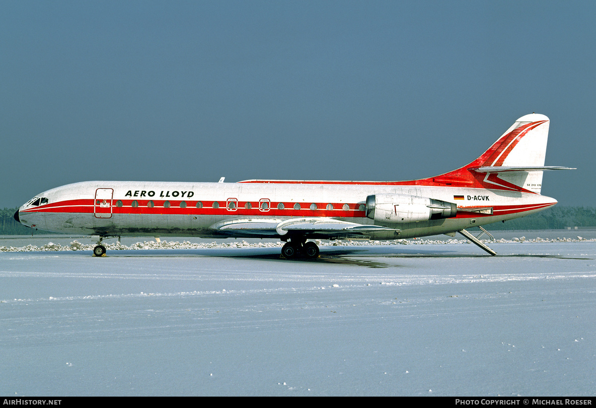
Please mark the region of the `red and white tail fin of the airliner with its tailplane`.
<svg viewBox="0 0 596 408"><path fill-rule="evenodd" d="M544 170L567 169L544 166L549 124L545 115L525 115L467 166L424 181L540 194Z"/></svg>

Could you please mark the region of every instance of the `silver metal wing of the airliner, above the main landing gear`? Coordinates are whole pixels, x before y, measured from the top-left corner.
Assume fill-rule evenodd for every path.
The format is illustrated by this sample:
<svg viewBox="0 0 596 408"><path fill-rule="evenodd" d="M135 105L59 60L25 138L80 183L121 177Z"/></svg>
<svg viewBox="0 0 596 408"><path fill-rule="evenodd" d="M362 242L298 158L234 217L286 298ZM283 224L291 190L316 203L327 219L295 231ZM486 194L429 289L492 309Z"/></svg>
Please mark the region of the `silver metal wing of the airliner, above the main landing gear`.
<svg viewBox="0 0 596 408"><path fill-rule="evenodd" d="M212 225L210 228L222 233L246 233L247 235L259 236L284 236L288 233L300 233L306 237L336 237L346 234L364 236L378 231L400 230L381 227L380 225L358 224L357 222L341 221L333 218L246 218L230 219Z"/></svg>

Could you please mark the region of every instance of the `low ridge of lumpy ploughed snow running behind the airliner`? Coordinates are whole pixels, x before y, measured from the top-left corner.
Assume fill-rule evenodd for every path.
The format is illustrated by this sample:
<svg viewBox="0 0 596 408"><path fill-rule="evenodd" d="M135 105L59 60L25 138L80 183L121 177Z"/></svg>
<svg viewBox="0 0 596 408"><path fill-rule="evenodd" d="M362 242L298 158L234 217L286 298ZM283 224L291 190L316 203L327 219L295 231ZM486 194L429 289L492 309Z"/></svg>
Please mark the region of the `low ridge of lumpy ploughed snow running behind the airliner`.
<svg viewBox="0 0 596 408"><path fill-rule="evenodd" d="M511 240L506 240L505 238L496 239L494 241L491 240L481 240L486 244L491 243L563 243L563 242L594 242L596 238L533 238L527 239L526 237L514 237ZM335 240L335 241L321 241L316 240L316 243L319 246L370 246L370 245L424 245L424 244L465 244L468 243L468 240L462 239L449 239L449 240L425 240L420 238L414 239L399 239L399 240L389 240L389 241L351 241L351 240ZM193 243L190 241L143 241L137 242L130 246L126 246L121 244L120 242L116 243L107 243L103 242L103 246L107 250L124 250L124 249L224 249L224 248L273 248L273 247L281 247L283 242L258 242L258 243L247 243L246 241L234 241L230 243L217 243L215 241L211 243ZM74 240L70 243L69 246L55 244L52 242L48 242L45 245L40 247L29 244L27 246L22 247L14 247L14 246L0 246L0 252L38 252L38 251L91 251L97 245L96 243L92 244L82 244L77 240Z"/></svg>

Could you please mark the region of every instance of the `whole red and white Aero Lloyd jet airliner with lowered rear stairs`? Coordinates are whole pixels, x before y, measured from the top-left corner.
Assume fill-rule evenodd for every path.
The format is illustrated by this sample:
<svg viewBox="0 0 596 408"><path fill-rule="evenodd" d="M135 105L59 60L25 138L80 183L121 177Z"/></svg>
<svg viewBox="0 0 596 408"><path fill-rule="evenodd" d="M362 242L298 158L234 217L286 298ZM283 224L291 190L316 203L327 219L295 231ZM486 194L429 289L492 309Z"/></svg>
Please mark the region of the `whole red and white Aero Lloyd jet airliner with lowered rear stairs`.
<svg viewBox="0 0 596 408"><path fill-rule="evenodd" d="M542 211L549 120L519 118L464 167L411 181L246 180L238 183L85 181L38 194L14 218L27 227L103 238L278 238L284 258L316 258L313 239L394 240L462 234L465 228ZM485 231L485 230L483 230Z"/></svg>

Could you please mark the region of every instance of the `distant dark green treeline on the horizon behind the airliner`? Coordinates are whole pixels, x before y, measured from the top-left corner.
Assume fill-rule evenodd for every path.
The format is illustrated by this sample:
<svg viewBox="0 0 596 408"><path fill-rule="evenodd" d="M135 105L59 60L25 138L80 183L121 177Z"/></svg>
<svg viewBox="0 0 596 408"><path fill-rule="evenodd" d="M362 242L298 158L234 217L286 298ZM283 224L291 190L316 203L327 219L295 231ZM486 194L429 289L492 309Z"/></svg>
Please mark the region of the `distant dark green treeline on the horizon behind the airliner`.
<svg viewBox="0 0 596 408"><path fill-rule="evenodd" d="M27 235L31 228L24 227L14 219L17 208L1 210L0 235ZM596 208L554 206L538 214L505 222L495 222L485 228L489 231L502 230L564 230L567 227L596 227ZM45 231L35 231L44 234Z"/></svg>

